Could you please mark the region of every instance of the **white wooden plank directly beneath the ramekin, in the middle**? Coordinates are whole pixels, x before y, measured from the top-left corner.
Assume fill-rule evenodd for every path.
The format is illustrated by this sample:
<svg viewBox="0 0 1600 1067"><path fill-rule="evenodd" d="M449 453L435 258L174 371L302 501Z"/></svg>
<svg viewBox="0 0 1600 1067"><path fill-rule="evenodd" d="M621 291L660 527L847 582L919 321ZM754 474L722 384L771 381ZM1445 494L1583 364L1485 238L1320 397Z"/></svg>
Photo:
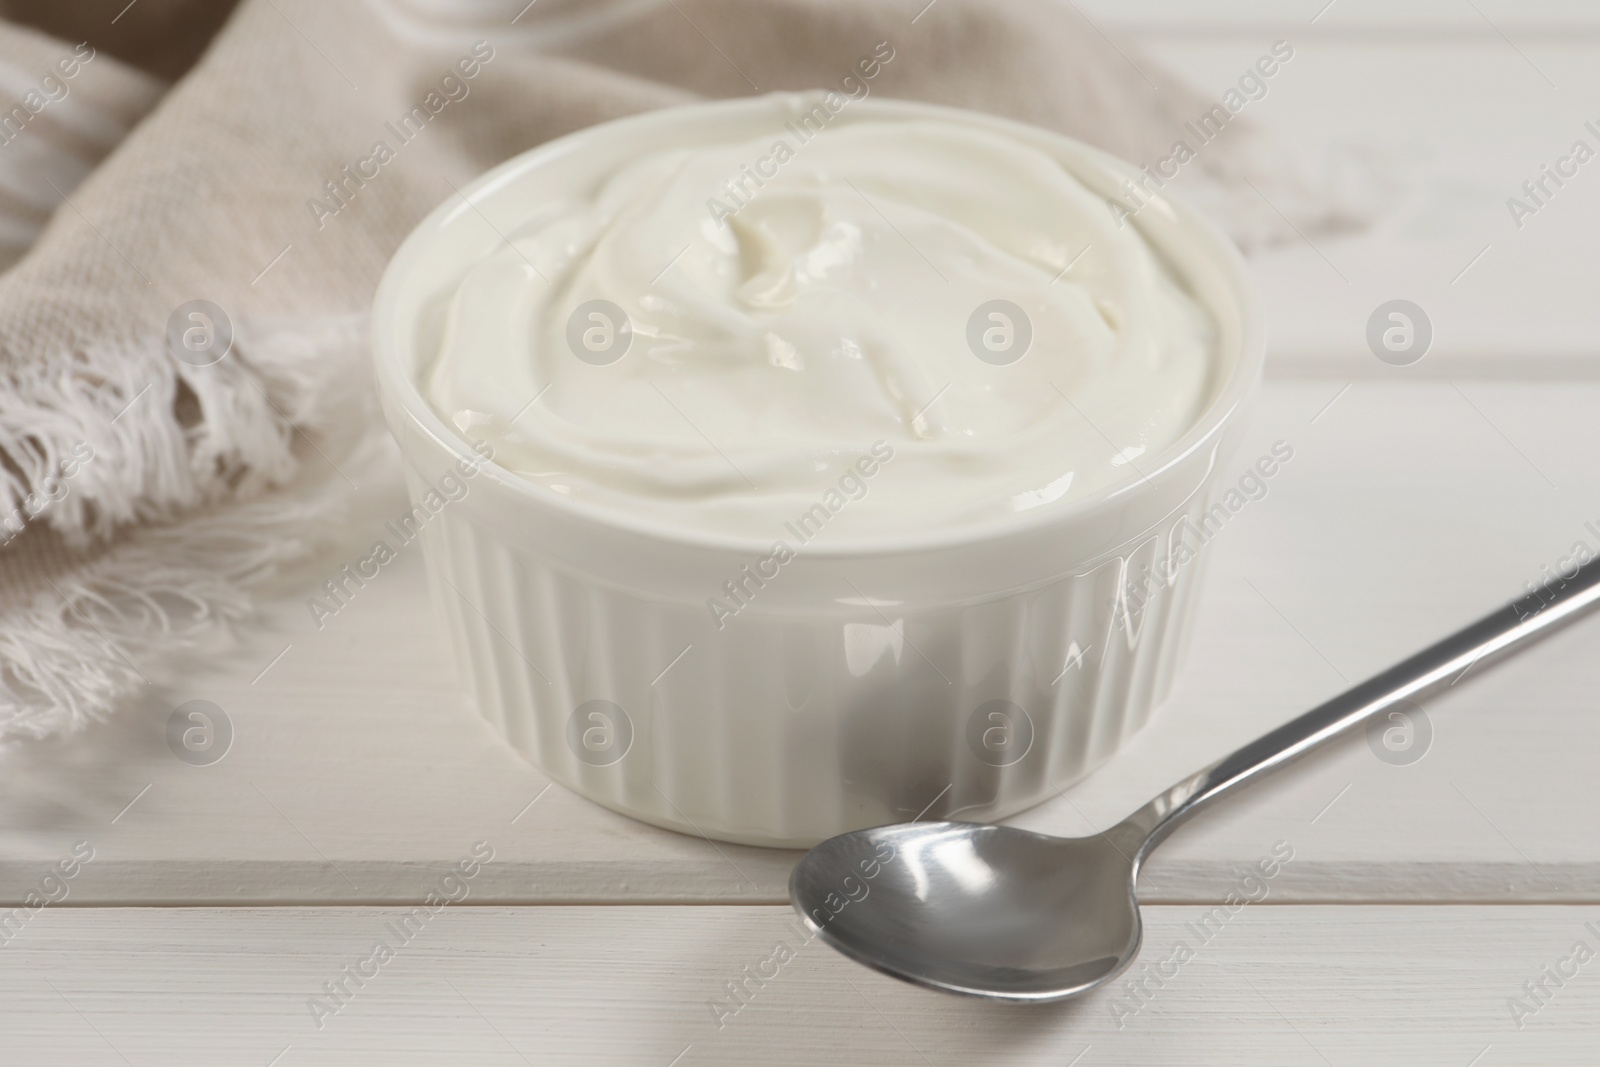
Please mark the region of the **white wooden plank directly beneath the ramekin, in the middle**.
<svg viewBox="0 0 1600 1067"><path fill-rule="evenodd" d="M1586 526L1600 528L1597 403L1594 384L1267 387L1229 478L1275 440L1294 458L1206 545L1176 693L1107 768L1018 822L1104 827L1517 593L1573 542L1600 550ZM314 629L306 593L368 541L354 531L261 630L126 713L0 755L0 899L21 902L78 840L96 854L75 904L408 901L477 840L499 851L485 901L784 899L790 853L714 848L546 790L459 696L414 553ZM1197 821L1155 856L1149 899L1221 899L1286 840L1283 899L1600 901L1582 829L1600 803L1597 627L1432 704L1419 763L1392 766L1355 739ZM235 728L211 766L166 745L190 699Z"/></svg>

